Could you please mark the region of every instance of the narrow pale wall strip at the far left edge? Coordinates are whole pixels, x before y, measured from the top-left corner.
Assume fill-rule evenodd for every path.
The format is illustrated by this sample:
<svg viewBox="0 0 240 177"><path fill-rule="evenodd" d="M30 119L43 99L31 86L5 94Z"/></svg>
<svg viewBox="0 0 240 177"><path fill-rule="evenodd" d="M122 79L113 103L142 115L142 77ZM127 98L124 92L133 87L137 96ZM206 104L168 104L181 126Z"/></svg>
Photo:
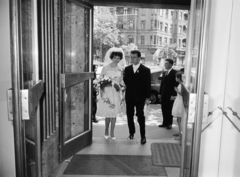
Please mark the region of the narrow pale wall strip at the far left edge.
<svg viewBox="0 0 240 177"><path fill-rule="evenodd" d="M0 1L0 176L15 176L13 122L8 121L6 90L11 88L9 0Z"/></svg>

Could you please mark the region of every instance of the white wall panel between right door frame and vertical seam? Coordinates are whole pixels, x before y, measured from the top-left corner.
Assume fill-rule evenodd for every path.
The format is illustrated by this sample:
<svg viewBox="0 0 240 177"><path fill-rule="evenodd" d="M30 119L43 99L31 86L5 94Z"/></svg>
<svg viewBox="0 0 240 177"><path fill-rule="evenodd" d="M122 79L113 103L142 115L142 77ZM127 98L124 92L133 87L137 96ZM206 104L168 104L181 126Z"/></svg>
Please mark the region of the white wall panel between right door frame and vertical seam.
<svg viewBox="0 0 240 177"><path fill-rule="evenodd" d="M205 91L209 94L209 111L223 107L232 0L212 0L207 55ZM200 177L216 177L219 168L222 113L219 109L208 117L215 120L203 133L199 164ZM207 124L203 124L203 128Z"/></svg>

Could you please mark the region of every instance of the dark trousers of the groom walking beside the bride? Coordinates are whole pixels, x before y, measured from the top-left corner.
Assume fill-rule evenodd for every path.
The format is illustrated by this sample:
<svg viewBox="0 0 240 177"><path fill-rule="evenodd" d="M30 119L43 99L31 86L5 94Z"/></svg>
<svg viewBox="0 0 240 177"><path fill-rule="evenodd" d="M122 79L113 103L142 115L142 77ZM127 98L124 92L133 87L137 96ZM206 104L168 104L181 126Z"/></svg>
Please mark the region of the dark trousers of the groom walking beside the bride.
<svg viewBox="0 0 240 177"><path fill-rule="evenodd" d="M141 138L145 138L145 116L144 116L145 101L129 100L126 102L126 105L129 134L134 135L135 133L134 113L136 108L136 116L138 118L138 123L140 126L140 135Z"/></svg>

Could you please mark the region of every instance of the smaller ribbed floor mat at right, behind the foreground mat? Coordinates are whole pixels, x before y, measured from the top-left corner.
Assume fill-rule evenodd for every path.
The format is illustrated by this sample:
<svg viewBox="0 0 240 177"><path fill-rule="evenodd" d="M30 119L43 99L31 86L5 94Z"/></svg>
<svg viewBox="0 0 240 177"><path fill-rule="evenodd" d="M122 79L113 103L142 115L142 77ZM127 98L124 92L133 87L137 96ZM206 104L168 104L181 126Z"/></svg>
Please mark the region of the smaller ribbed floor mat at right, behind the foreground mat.
<svg viewBox="0 0 240 177"><path fill-rule="evenodd" d="M189 167L189 146L186 146L187 167ZM153 165L165 167L180 167L181 146L176 143L152 143L152 163Z"/></svg>

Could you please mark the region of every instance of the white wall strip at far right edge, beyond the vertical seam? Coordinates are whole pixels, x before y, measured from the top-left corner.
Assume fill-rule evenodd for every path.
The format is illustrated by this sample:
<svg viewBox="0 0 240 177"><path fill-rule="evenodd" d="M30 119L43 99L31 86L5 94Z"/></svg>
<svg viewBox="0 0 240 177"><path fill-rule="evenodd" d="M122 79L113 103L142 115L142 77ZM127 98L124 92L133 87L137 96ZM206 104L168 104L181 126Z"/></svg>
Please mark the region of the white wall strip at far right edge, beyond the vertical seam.
<svg viewBox="0 0 240 177"><path fill-rule="evenodd" d="M226 66L227 76L224 109L230 120L237 126L238 130L226 117L223 118L219 177L240 176L240 120L232 114L230 109L228 109L228 107L231 107L232 110L237 112L238 116L240 116L240 1L233 0L231 5L232 17L230 24L231 31L229 36L228 63Z"/></svg>

